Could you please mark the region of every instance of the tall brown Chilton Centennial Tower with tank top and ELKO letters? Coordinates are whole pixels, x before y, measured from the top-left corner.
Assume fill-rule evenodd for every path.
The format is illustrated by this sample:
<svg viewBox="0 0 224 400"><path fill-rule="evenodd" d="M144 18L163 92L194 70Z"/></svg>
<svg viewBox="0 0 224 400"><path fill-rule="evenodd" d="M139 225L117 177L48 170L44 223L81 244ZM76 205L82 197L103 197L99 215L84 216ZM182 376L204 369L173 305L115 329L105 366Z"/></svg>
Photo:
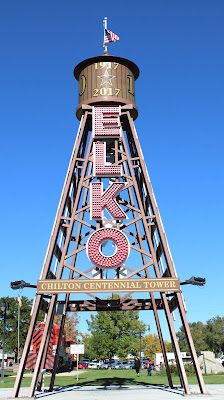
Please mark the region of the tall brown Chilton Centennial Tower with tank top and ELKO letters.
<svg viewBox="0 0 224 400"><path fill-rule="evenodd" d="M172 312L177 310L200 391L206 393L179 279L134 125L138 116L135 80L139 69L130 60L105 53L79 63L74 75L79 82L76 115L80 126L38 282L13 395L18 396L38 314L43 310L45 328L29 396L33 396L37 386L41 387L41 371L58 304L63 305L60 335L68 311L151 310L172 388L160 323L161 314L165 314L181 386L190 394L172 318ZM119 293L119 299L113 298L113 293ZM59 346L50 390L58 355Z"/></svg>

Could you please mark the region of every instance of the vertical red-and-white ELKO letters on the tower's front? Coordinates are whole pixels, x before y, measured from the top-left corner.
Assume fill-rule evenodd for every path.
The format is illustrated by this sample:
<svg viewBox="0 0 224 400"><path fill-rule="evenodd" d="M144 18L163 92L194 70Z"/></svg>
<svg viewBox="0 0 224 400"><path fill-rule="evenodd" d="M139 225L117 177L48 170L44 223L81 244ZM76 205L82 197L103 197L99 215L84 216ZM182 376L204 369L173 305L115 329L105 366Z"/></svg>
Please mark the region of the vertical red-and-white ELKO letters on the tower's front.
<svg viewBox="0 0 224 400"><path fill-rule="evenodd" d="M121 108L93 107L93 173L96 177L119 177L121 167L106 163L106 142L99 139L119 138L122 134L120 123ZM90 189L90 218L102 220L106 209L115 220L126 218L125 212L116 201L116 196L125 188L123 182L113 182L103 190L102 182L93 182ZM103 242L112 240L115 252L111 256L102 253ZM118 268L129 255L129 241L125 234L118 229L99 229L90 236L86 252L89 259L99 268Z"/></svg>

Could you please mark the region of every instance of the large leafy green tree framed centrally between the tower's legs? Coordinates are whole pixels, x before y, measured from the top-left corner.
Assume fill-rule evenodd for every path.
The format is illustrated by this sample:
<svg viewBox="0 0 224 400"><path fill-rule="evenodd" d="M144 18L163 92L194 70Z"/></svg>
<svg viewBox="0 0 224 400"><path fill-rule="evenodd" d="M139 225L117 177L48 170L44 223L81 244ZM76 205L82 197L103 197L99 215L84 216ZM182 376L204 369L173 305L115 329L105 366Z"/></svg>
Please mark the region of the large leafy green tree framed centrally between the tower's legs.
<svg viewBox="0 0 224 400"><path fill-rule="evenodd" d="M89 354L97 359L125 358L139 351L139 335L146 330L138 311L108 311L91 315L86 338ZM90 350L91 349L91 350Z"/></svg>

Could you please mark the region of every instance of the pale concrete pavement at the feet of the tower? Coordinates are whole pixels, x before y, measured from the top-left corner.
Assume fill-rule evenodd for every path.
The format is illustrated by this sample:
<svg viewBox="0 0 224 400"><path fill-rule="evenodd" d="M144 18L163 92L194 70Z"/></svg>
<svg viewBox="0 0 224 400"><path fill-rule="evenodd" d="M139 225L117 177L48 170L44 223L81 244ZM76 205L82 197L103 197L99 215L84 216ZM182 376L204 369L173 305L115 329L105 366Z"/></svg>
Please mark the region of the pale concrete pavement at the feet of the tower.
<svg viewBox="0 0 224 400"><path fill-rule="evenodd" d="M147 386L74 386L69 388L58 388L51 393L37 394L41 400L224 400L223 385L207 385L209 394L199 394L198 386L191 386L192 394L184 396L182 390L171 390L165 386L147 385ZM9 400L12 389L0 389L0 399ZM26 397L28 388L22 388L20 396Z"/></svg>

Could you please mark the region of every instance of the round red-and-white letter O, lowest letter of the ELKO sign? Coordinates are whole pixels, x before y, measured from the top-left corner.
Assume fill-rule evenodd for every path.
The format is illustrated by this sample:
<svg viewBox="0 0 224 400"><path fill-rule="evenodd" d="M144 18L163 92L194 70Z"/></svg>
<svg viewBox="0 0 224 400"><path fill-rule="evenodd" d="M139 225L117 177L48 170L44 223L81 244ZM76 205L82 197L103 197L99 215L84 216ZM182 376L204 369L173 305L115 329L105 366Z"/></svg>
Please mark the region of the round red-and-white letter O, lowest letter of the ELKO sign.
<svg viewBox="0 0 224 400"><path fill-rule="evenodd" d="M105 240L112 240L116 246L115 253L105 256L101 246ZM87 242L87 255L99 268L118 268L129 255L129 241L125 234L118 229L103 228L93 232Z"/></svg>

